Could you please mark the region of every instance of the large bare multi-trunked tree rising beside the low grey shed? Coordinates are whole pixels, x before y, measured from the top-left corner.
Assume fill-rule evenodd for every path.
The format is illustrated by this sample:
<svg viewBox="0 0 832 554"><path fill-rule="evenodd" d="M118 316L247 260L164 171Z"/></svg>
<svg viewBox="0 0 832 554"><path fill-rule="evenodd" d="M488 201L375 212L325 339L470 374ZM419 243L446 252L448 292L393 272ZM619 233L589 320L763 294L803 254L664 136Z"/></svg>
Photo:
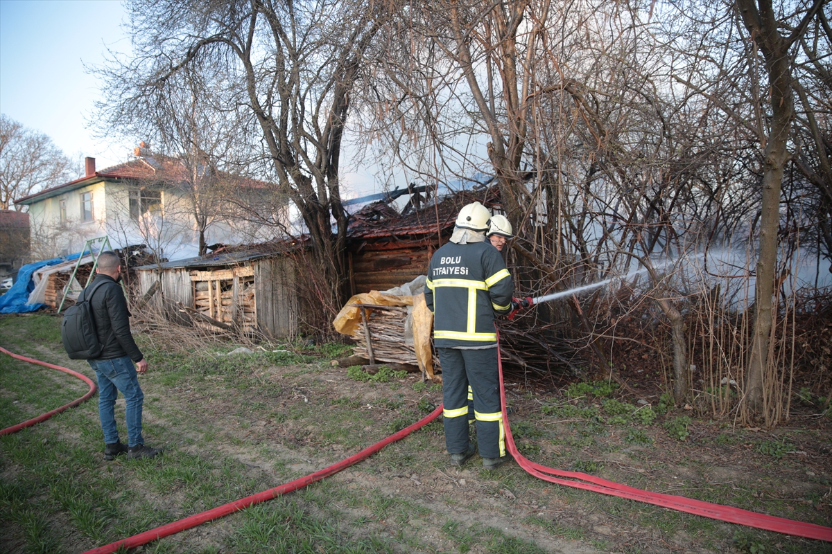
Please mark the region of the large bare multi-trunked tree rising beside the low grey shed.
<svg viewBox="0 0 832 554"><path fill-rule="evenodd" d="M341 144L384 4L141 0L128 9L136 53L109 71L111 105L151 95L183 71L212 75L220 105L243 110L238 127L256 130L261 159L299 210L333 295L326 308L337 309L347 228Z"/></svg>

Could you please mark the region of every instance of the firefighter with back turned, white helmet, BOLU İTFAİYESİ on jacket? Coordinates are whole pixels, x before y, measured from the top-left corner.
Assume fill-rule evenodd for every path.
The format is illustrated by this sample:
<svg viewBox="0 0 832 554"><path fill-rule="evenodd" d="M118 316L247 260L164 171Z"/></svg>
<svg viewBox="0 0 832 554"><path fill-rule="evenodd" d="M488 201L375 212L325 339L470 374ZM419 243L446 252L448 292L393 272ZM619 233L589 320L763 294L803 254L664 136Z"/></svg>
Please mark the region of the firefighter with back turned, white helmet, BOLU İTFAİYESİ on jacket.
<svg viewBox="0 0 832 554"><path fill-rule="evenodd" d="M431 257L424 289L442 364L445 446L456 465L473 456L468 442L470 385L484 468L508 459L494 315L508 314L514 292L503 257L485 240L490 219L488 208L478 202L460 210L450 242Z"/></svg>

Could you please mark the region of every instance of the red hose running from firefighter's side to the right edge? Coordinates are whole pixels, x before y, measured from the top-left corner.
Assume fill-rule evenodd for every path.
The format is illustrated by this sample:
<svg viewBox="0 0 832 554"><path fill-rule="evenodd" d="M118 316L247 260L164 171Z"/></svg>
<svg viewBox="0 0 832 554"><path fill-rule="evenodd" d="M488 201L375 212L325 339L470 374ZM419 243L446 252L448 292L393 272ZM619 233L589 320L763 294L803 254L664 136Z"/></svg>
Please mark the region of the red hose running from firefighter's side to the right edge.
<svg viewBox="0 0 832 554"><path fill-rule="evenodd" d="M620 483L607 481L607 479L602 479L588 473L547 468L539 463L529 461L518 451L517 446L514 444L511 428L508 425L508 414L506 413L506 389L503 386L503 360L500 359L500 355L498 355L497 359L500 374L500 400L503 403L503 422L506 428L506 444L508 445L508 452L511 453L518 465L526 470L526 472L530 475L544 481L548 481L549 483L557 483L559 485L566 485L567 487L582 488L596 493L629 498L630 500L637 500L638 502L669 507L673 510L679 510L680 512L693 513L697 516L711 517L712 519L718 519L723 522L739 523L740 525L757 527L758 529L765 529L766 531L774 531L785 533L787 535L795 535L797 537L814 538L821 541L832 542L832 527L823 527L815 525L814 523L796 522L791 519L785 519L784 517L767 516L762 513L743 510L738 507L722 506L721 504L702 502L701 500L674 496L672 494L651 493L649 491L641 490L640 488L628 487Z"/></svg>

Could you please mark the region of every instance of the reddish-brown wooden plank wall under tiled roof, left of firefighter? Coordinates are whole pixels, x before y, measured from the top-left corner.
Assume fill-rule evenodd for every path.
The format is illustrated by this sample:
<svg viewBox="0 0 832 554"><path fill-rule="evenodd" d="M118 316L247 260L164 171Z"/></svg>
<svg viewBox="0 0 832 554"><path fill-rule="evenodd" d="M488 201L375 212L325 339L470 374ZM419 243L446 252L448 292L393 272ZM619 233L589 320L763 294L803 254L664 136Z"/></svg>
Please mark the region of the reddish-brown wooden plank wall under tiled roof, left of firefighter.
<svg viewBox="0 0 832 554"><path fill-rule="evenodd" d="M374 248L368 244L352 256L354 294L401 287L428 272L428 247Z"/></svg>

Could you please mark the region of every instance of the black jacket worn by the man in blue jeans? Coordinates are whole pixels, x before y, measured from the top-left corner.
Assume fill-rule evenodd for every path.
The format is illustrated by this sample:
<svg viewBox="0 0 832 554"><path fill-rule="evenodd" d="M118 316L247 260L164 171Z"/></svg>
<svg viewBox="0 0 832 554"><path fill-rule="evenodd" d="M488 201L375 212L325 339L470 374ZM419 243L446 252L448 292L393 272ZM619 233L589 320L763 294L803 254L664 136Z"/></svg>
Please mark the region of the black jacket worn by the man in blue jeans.
<svg viewBox="0 0 832 554"><path fill-rule="evenodd" d="M121 285L103 273L98 273L92 283L98 282L99 279L108 282L98 287L92 298L87 298L87 292L84 292L84 298L87 298L92 307L98 341L102 345L102 353L97 360L112 360L129 355L131 360L139 362L144 356L130 334L130 311L127 310L127 301L124 292L121 291ZM92 283L87 289L92 288Z"/></svg>

